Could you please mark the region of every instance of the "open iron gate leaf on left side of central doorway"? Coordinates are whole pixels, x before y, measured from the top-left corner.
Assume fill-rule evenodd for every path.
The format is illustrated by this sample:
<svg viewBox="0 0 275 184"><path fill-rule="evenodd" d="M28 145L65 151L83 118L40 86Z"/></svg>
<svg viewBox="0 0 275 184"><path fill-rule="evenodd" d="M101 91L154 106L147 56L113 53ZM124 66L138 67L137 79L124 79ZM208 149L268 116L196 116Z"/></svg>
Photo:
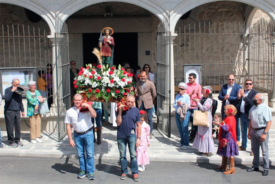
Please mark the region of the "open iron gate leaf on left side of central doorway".
<svg viewBox="0 0 275 184"><path fill-rule="evenodd" d="M67 24L56 16L55 59L57 76L57 114L58 140L67 135L64 123L66 110L71 107L70 70L69 70L69 34Z"/></svg>

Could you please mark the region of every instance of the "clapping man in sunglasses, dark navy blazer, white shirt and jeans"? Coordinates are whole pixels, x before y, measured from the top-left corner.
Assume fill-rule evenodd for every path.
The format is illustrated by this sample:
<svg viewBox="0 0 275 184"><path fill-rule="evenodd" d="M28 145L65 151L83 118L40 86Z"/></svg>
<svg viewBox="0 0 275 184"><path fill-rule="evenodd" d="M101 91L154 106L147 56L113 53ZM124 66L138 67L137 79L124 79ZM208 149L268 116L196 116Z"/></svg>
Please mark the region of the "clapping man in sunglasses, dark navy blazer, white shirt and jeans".
<svg viewBox="0 0 275 184"><path fill-rule="evenodd" d="M247 147L247 133L249 125L249 110L254 105L253 98L257 94L257 91L253 89L253 81L250 79L245 80L244 86L246 90L240 89L238 92L238 99L240 100L238 117L240 118L241 133L242 133L242 145L239 147L239 151L245 151Z"/></svg>

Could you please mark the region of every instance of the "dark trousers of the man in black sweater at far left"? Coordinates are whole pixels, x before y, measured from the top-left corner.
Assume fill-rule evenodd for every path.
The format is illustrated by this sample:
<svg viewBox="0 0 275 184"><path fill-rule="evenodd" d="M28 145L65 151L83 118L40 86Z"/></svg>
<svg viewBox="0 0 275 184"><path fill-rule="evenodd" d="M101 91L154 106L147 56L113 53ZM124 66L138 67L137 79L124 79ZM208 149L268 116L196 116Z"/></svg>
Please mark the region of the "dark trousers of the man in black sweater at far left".
<svg viewBox="0 0 275 184"><path fill-rule="evenodd" d="M18 143L20 141L20 111L4 110L4 115L9 143ZM13 135L13 128L15 136Z"/></svg>

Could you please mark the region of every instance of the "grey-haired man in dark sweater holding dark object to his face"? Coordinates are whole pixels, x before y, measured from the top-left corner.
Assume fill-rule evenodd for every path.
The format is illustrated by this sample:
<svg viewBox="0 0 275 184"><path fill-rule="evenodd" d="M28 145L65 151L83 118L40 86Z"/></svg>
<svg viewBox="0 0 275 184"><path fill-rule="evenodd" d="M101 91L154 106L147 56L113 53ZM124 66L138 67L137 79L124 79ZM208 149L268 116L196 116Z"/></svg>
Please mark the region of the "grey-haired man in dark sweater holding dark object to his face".
<svg viewBox="0 0 275 184"><path fill-rule="evenodd" d="M22 95L15 92L19 84L19 79L14 78L12 86L5 89L4 115L9 145L11 147L23 146L20 142L20 111L23 117L25 116L25 112L22 103ZM13 128L15 129L15 136L13 134Z"/></svg>

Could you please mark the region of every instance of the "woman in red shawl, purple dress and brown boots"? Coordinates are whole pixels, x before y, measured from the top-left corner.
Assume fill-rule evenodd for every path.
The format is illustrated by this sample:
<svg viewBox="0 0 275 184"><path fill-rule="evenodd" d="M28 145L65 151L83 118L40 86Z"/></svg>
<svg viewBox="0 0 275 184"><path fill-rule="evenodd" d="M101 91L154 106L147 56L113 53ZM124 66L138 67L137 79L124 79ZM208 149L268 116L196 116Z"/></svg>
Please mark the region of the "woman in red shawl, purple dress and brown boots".
<svg viewBox="0 0 275 184"><path fill-rule="evenodd" d="M239 155L237 137L236 137L236 119L234 115L237 113L237 109L234 105L225 105L224 106L225 119L220 123L220 118L215 115L215 121L213 123L219 127L219 145L217 154L222 156L222 165L216 167L217 169L224 169L223 174L234 174L235 173L235 161L234 156ZM222 147L221 140L226 139L227 144L225 147ZM229 170L227 170L227 160L229 165Z"/></svg>

